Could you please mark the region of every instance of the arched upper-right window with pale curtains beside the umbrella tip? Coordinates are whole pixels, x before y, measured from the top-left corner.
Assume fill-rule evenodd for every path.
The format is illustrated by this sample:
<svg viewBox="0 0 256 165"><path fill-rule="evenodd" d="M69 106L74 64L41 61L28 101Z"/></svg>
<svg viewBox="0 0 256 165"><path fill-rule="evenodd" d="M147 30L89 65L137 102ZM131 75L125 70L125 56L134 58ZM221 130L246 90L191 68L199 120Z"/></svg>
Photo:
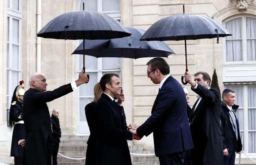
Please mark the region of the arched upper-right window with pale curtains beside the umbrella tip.
<svg viewBox="0 0 256 165"><path fill-rule="evenodd" d="M240 16L226 22L226 62L256 61L256 18Z"/></svg>

